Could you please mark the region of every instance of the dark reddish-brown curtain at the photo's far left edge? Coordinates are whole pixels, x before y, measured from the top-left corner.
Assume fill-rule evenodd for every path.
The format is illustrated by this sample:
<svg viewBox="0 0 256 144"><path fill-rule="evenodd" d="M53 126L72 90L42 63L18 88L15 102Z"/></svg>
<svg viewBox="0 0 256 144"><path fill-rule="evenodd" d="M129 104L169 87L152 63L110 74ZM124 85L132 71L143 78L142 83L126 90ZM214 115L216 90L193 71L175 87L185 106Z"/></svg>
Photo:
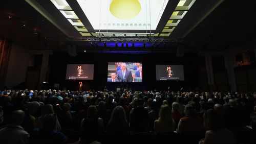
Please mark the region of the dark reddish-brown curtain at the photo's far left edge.
<svg viewBox="0 0 256 144"><path fill-rule="evenodd" d="M4 87L5 84L11 47L11 41L0 37L0 88Z"/></svg>

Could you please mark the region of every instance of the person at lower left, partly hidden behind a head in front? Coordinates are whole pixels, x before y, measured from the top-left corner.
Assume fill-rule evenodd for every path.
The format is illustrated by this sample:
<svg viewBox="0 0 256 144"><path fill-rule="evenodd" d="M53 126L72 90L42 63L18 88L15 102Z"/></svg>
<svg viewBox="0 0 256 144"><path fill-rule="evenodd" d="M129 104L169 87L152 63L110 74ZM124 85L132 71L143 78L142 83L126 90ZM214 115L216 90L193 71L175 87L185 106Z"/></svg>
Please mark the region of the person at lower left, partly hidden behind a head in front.
<svg viewBox="0 0 256 144"><path fill-rule="evenodd" d="M53 106L51 104L47 104L42 108L42 114L40 117L38 117L36 124L35 124L35 128L42 128L42 119L44 118L45 115L47 114L54 114L54 110L53 110ZM60 131L61 127L58 121L58 118L56 118L56 127L54 129L55 131Z"/></svg>

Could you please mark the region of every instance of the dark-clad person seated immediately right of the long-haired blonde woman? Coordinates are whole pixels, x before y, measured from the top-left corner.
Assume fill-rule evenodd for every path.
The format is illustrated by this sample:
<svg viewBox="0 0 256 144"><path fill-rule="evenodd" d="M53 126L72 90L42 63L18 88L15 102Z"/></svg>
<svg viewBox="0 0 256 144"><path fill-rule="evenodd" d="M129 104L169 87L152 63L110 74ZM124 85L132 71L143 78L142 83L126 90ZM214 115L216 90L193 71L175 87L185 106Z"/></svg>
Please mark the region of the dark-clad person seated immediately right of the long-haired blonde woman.
<svg viewBox="0 0 256 144"><path fill-rule="evenodd" d="M183 134L201 134L204 132L203 121L197 116L196 110L192 105L186 105L185 116L180 119L177 133Z"/></svg>

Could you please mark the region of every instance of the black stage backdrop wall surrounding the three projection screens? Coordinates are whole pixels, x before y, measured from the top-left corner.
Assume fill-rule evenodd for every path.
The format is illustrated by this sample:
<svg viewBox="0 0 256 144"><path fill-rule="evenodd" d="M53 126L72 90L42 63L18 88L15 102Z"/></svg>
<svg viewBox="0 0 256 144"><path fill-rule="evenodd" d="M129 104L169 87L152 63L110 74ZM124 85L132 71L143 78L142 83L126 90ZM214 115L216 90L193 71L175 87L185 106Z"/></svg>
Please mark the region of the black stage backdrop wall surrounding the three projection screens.
<svg viewBox="0 0 256 144"><path fill-rule="evenodd" d="M106 82L108 74L108 62L142 62L142 83L111 83ZM172 90L195 89L198 87L198 58L196 53L185 54L177 58L175 53L165 54L102 54L80 53L71 57L67 53L54 53L50 56L49 87L59 83L60 89L78 89L79 80L65 80L67 64L94 64L94 80L83 80L83 90L102 90L106 86L109 90L125 86L132 90L164 90L169 86ZM156 81L157 64L181 64L184 65L185 81Z"/></svg>

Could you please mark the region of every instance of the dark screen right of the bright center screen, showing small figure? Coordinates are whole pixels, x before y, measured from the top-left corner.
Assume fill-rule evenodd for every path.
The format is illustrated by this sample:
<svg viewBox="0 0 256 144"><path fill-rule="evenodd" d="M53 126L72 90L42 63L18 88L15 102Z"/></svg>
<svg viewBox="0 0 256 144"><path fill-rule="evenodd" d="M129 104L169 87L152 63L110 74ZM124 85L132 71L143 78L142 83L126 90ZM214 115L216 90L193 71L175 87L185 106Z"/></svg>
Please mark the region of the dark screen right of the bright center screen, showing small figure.
<svg viewBox="0 0 256 144"><path fill-rule="evenodd" d="M156 65L157 81L184 81L183 65Z"/></svg>

